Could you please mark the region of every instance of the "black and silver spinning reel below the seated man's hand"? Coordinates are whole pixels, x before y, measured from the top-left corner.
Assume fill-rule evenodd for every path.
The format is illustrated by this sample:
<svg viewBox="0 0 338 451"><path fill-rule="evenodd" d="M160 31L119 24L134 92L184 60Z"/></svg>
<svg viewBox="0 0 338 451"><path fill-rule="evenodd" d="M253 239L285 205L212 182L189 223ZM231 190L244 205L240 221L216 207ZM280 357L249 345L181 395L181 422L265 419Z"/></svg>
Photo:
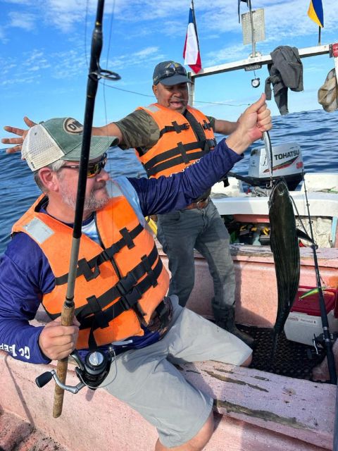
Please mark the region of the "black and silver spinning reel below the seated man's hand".
<svg viewBox="0 0 338 451"><path fill-rule="evenodd" d="M80 383L75 386L65 385L58 378L56 371L52 369L51 371L46 371L46 373L42 373L40 376L37 376L35 379L37 386L42 388L46 385L46 383L49 383L49 381L54 378L54 381L60 388L73 393L73 395L76 395L76 393L84 387L96 390L96 388L98 388L98 386L108 375L112 361L111 352L108 351L108 354L106 354L99 350L92 351L86 355L84 361L82 361L77 350L74 350L70 355L78 365L75 366L75 373L80 379Z"/></svg>

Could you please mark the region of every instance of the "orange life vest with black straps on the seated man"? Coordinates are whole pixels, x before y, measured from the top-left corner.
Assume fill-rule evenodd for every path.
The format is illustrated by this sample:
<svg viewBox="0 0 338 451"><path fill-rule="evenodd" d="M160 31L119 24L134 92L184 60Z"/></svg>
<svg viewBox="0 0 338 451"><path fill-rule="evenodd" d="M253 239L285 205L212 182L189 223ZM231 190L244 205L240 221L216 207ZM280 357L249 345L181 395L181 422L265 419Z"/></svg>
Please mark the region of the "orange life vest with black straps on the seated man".
<svg viewBox="0 0 338 451"><path fill-rule="evenodd" d="M42 304L55 319L65 300L73 229L40 213L43 202L44 196L39 197L12 232L30 235L49 261L55 287L43 295ZM141 324L149 323L169 284L153 237L125 197L114 197L95 216L102 247L84 234L80 241L74 293L81 324L77 349L144 335Z"/></svg>

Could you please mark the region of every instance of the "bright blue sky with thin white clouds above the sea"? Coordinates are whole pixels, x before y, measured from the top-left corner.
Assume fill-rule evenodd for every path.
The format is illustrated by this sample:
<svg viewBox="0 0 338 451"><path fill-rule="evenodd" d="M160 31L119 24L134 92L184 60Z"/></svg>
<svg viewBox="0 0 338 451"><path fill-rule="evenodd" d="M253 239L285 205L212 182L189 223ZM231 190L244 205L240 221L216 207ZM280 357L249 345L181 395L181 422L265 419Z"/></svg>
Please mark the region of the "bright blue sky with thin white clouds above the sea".
<svg viewBox="0 0 338 451"><path fill-rule="evenodd" d="M309 1L251 0L253 9L264 8L265 14L265 41L258 42L256 50L269 54L279 45L315 46L318 25L307 16ZM94 125L118 120L154 101L151 77L156 63L183 63L189 4L106 1L101 67L117 72L121 80L99 85ZM83 122L96 1L0 0L0 5L1 128L22 126L24 115L35 121L73 116ZM194 0L194 5L203 67L249 56L251 44L242 43L237 0ZM323 0L323 6L322 44L338 42L338 1ZM242 3L241 12L247 11ZM318 88L332 67L333 58L327 55L303 59L304 92L289 93L290 112L321 109ZM256 76L261 79L257 89L251 87L253 73L244 70L197 79L196 106L216 118L236 120L263 92L266 66ZM273 100L269 106L273 115L279 114Z"/></svg>

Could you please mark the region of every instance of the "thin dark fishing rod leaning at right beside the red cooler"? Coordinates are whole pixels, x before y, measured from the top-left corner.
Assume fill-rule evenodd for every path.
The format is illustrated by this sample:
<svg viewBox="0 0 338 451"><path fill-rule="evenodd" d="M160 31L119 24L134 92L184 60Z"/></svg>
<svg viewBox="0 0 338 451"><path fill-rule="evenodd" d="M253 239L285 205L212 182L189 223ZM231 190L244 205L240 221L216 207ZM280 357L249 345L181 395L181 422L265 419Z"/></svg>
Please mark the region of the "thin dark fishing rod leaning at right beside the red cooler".
<svg viewBox="0 0 338 451"><path fill-rule="evenodd" d="M337 384L337 372L336 372L336 366L334 364L334 354L332 352L332 336L330 334L329 322L327 320L327 312L326 312L326 307L325 307L325 300L324 300L324 296L323 296L323 288L322 288L322 283L320 280L318 258L317 258L315 240L313 237L310 206L308 203L308 192L306 190L304 173L303 173L303 186L304 186L304 193L305 193L305 199L306 199L306 209L307 209L307 213L308 213L308 226L310 228L310 236L311 236L311 240L312 240L311 249L313 252L313 261L315 264L315 278L316 278L318 295L319 295L318 297L319 297L319 307L320 307L320 318L322 319L323 339L324 339L326 355L327 355L327 366L329 368L329 373L330 373L330 383L336 385ZM313 344L315 345L315 340L314 340Z"/></svg>

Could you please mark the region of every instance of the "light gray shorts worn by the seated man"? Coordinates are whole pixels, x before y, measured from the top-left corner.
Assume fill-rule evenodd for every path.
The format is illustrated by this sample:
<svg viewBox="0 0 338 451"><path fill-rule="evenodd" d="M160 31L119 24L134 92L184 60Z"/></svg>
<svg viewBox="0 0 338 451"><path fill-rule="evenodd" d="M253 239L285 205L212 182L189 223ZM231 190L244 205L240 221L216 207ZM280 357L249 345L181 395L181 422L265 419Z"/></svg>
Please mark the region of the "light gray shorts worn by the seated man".
<svg viewBox="0 0 338 451"><path fill-rule="evenodd" d="M251 349L211 321L178 305L162 340L119 354L102 384L111 395L137 410L157 428L165 447L191 440L205 424L213 399L185 380L174 364L218 362L240 365Z"/></svg>

